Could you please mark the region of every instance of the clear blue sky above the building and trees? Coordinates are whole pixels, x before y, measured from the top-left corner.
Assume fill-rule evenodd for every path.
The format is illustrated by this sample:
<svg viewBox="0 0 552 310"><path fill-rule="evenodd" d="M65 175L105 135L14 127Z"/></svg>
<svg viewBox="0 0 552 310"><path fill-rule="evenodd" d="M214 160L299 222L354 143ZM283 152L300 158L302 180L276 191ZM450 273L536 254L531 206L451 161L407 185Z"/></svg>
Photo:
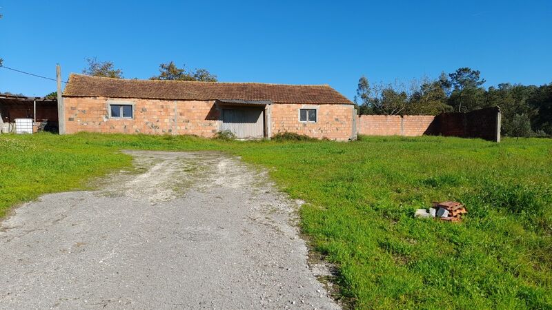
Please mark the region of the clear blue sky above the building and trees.
<svg viewBox="0 0 552 310"><path fill-rule="evenodd" d="M63 78L86 57L148 79L159 63L219 81L328 83L353 99L363 74L391 82L468 66L486 86L552 81L552 1L6 1L4 65ZM0 68L0 92L55 82Z"/></svg>

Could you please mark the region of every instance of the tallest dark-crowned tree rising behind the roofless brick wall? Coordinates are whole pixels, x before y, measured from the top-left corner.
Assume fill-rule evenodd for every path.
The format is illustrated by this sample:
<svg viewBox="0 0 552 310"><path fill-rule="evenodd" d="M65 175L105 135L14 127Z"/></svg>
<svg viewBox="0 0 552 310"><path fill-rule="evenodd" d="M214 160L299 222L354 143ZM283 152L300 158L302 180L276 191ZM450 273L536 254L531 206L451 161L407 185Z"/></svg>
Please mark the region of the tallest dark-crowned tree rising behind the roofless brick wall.
<svg viewBox="0 0 552 310"><path fill-rule="evenodd" d="M480 88L485 83L480 78L481 72L470 68L459 68L449 74L453 92L451 93L451 105L457 107L458 112L469 112L481 107L484 90ZM464 109L462 109L464 105Z"/></svg>

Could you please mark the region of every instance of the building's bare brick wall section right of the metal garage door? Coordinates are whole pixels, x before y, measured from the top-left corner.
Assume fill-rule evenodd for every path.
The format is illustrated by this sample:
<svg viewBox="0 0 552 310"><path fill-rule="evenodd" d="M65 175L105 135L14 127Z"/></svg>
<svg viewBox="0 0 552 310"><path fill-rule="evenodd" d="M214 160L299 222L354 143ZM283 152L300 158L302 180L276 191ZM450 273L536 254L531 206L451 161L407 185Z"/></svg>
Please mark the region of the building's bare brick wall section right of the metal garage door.
<svg viewBox="0 0 552 310"><path fill-rule="evenodd" d="M299 121L300 109L317 110L316 122ZM353 105L306 105L277 103L270 106L271 132L294 132L314 138L347 141L354 138Z"/></svg>

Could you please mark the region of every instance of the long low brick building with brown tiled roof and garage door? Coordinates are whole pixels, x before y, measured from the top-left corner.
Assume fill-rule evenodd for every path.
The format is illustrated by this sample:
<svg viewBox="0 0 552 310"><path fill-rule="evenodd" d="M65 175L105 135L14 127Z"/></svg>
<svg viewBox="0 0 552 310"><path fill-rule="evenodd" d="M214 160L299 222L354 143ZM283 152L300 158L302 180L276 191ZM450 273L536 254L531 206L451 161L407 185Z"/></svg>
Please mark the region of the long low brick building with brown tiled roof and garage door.
<svg viewBox="0 0 552 310"><path fill-rule="evenodd" d="M109 79L71 74L63 92L63 130L195 134L230 130L238 138L295 132L356 137L353 103L328 85Z"/></svg>

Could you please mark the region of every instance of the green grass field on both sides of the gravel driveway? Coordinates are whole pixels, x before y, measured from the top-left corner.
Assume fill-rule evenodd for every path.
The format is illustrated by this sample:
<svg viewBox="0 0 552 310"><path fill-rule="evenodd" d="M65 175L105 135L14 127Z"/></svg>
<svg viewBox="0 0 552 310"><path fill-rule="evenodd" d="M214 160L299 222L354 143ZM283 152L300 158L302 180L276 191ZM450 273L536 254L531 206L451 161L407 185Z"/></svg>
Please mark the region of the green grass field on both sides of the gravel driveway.
<svg viewBox="0 0 552 310"><path fill-rule="evenodd" d="M119 149L217 149L270 168L354 307L552 309L552 140L215 141L0 136L0 212L130 165ZM413 218L458 200L463 223Z"/></svg>

